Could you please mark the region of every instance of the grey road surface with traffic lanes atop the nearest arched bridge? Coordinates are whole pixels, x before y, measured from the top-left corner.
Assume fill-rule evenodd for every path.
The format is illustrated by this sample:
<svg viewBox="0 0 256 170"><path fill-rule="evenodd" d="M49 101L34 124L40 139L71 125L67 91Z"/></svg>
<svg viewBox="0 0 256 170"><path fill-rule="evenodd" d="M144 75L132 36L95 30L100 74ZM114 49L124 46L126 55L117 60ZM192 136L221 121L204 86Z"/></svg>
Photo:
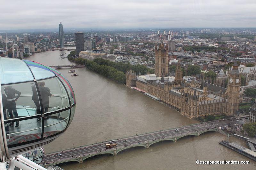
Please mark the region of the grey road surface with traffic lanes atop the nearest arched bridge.
<svg viewBox="0 0 256 170"><path fill-rule="evenodd" d="M234 118L235 119L235 118ZM166 139L166 138L173 138L179 136L184 136L184 135L189 135L195 132L200 132L202 130L205 130L207 128L218 128L220 126L225 126L228 123L233 123L231 122L231 119L228 120L222 120L222 121L213 121L213 122L205 122L201 124L192 124L192 125L187 125L183 127L177 128L179 131L175 131L174 129L170 130L161 130L161 131L156 131L156 132L151 132L151 133L146 133L146 134L141 134L141 135L136 135L133 137L128 137L128 138L120 138L116 140L117 143L117 148L123 148L127 146L132 146L132 145L138 145L139 143L144 143L147 141L154 141L154 140L159 140L159 139ZM126 140L127 142L124 142ZM63 162L64 160L70 160L73 158L78 158L79 156L86 156L86 155L92 155L95 153L100 153L100 152L106 152L106 151L113 151L113 148L106 149L106 144L109 143L109 141L103 141L100 143L92 144L92 145L86 145L86 146L81 146L81 147L76 147L76 148L69 148L63 151L59 152L54 152L54 153L49 153L44 156L44 159L42 161L42 164L58 164L58 162ZM61 156L57 156L58 153L61 153ZM46 165L47 166L47 165Z"/></svg>

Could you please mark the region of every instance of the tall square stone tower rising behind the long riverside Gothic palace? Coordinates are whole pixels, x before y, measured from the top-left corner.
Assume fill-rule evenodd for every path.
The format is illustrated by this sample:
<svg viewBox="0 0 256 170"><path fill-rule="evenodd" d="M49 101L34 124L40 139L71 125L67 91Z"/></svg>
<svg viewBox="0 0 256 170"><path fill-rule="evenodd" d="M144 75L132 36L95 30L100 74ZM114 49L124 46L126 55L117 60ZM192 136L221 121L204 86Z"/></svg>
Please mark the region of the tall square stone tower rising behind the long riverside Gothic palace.
<svg viewBox="0 0 256 170"><path fill-rule="evenodd" d="M155 74L160 77L168 75L168 46L164 46L161 43L158 47L155 47Z"/></svg>

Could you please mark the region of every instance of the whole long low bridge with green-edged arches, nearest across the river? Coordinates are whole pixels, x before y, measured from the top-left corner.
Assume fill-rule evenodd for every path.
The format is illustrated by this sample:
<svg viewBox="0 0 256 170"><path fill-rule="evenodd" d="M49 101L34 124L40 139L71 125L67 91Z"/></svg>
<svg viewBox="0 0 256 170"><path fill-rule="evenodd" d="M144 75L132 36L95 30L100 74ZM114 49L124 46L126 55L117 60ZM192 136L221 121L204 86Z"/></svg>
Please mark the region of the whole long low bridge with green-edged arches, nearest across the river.
<svg viewBox="0 0 256 170"><path fill-rule="evenodd" d="M176 142L178 139L186 136L199 137L202 133L208 131L219 131L218 127L227 125L228 123L230 123L230 120L231 119L191 124L178 128L154 131L138 135L136 134L135 136L131 137L114 139L116 140L117 146L110 149L106 149L105 146L109 143L110 140L107 141L104 139L104 141L97 142L91 145L84 145L68 148L62 151L47 153L42 161L42 166L52 166L71 161L82 163L85 159L96 155L112 154L115 156L118 152L132 147L148 148L152 144L165 140ZM61 156L57 156L58 153L60 153Z"/></svg>

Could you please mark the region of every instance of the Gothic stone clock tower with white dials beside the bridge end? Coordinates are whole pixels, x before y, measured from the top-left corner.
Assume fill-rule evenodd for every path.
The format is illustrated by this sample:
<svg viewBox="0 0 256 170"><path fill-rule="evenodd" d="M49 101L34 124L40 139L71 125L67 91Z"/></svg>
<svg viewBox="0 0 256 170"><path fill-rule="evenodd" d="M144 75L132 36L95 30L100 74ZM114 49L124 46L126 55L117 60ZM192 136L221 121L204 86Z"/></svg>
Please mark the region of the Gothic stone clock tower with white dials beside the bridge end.
<svg viewBox="0 0 256 170"><path fill-rule="evenodd" d="M227 102L227 115L232 116L236 114L239 107L239 89L240 89L241 76L238 71L237 61L234 62L232 70L228 75L228 102Z"/></svg>

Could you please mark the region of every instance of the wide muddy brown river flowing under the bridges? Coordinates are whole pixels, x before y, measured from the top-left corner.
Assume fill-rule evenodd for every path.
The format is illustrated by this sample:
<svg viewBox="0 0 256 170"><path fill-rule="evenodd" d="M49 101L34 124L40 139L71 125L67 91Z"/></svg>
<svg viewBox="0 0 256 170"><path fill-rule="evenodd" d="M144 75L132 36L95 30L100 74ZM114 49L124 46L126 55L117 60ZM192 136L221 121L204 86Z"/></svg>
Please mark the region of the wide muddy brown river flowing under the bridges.
<svg viewBox="0 0 256 170"><path fill-rule="evenodd" d="M74 48L74 47L72 47ZM44 65L73 64L60 60L70 51L35 53L26 58ZM59 138L44 146L45 152L53 152L73 146L87 145L105 139L123 138L140 133L198 123L179 112L126 86L112 81L87 68L75 68L79 76L71 77L69 68L60 71L70 81L76 94L74 119ZM130 169L255 169L256 163L218 142L227 137L218 132L208 132L200 137L185 137L177 142L163 141L149 149L135 147L113 155L101 155L86 159L82 164L70 162L59 165L71 170L130 170ZM237 138L230 142L245 145ZM196 160L249 160L249 165L198 165Z"/></svg>

